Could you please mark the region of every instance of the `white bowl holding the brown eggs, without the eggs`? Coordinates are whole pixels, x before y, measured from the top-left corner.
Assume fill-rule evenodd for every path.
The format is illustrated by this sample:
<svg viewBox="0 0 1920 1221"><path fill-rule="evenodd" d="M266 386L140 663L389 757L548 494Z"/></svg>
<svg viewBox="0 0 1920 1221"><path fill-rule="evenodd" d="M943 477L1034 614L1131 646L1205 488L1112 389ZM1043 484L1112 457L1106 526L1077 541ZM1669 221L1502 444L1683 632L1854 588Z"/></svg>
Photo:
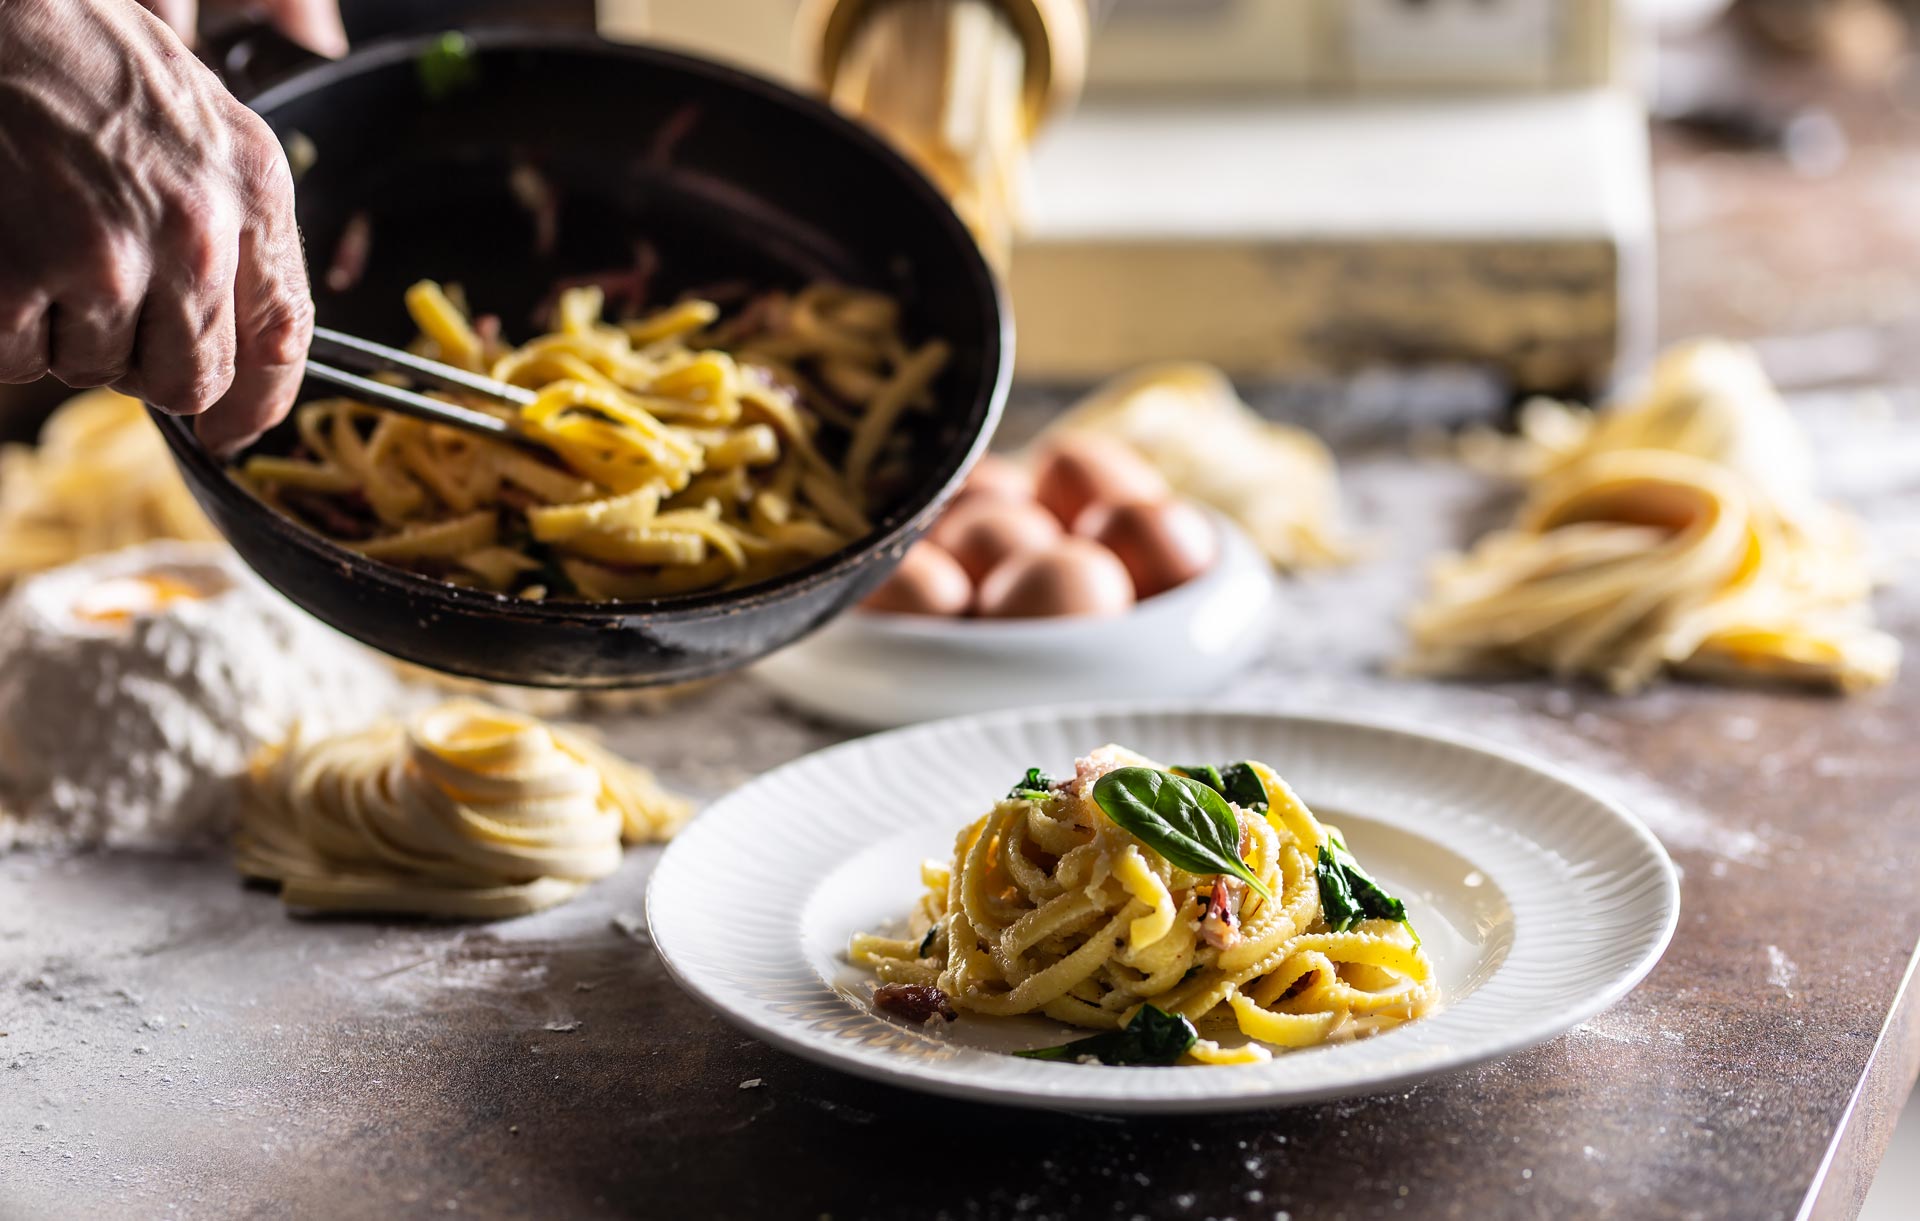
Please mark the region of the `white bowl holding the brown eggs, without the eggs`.
<svg viewBox="0 0 1920 1221"><path fill-rule="evenodd" d="M1210 695L1267 643L1273 570L1210 515L1219 559L1108 618L979 620L849 610L753 674L781 699L868 730L1087 699Z"/></svg>

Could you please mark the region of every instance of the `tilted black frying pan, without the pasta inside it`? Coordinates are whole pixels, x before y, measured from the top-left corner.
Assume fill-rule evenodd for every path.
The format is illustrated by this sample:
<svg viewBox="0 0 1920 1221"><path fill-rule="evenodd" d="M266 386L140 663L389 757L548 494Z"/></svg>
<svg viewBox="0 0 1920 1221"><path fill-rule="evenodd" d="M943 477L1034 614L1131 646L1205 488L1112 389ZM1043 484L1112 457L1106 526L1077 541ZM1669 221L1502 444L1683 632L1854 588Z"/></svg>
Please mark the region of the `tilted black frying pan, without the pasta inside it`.
<svg viewBox="0 0 1920 1221"><path fill-rule="evenodd" d="M939 411L916 434L918 480L872 536L760 586L649 603L528 603L457 589L367 561L265 509L186 422L159 417L175 459L221 532L267 582L315 616L413 662L513 683L624 687L732 670L818 628L870 591L933 520L998 419L1012 328L966 227L906 161L824 104L728 67L588 35L472 35L470 86L432 100L419 58L390 40L307 69L253 100L282 140L319 157L300 182L315 276L365 211L365 276L315 284L321 323L388 344L411 334L417 278L465 284L515 338L564 275L659 253L653 301L726 280L812 278L897 296L910 340L954 357ZM509 190L515 161L559 188L559 240L536 251ZM313 388L324 394L324 388ZM290 426L261 442L290 445Z"/></svg>

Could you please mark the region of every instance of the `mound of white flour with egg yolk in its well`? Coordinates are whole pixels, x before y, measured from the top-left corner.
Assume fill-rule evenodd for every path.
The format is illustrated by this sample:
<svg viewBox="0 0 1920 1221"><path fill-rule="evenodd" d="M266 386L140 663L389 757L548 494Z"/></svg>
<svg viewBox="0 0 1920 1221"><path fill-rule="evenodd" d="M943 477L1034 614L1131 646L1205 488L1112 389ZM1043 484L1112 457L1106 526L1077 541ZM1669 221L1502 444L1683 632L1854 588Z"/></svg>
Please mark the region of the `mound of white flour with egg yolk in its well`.
<svg viewBox="0 0 1920 1221"><path fill-rule="evenodd" d="M100 614L138 582L202 591ZM0 850L209 845L253 751L294 722L359 728L392 670L265 587L225 545L148 543L40 574L0 607Z"/></svg>

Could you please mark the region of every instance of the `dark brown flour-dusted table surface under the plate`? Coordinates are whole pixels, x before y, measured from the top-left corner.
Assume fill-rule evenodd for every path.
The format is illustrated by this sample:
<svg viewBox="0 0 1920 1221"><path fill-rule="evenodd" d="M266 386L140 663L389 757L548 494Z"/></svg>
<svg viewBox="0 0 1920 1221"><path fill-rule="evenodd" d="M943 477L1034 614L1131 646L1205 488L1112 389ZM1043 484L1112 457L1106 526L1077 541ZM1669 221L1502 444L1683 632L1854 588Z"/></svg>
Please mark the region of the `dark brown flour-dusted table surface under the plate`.
<svg viewBox="0 0 1920 1221"><path fill-rule="evenodd" d="M1899 202L1920 142L1895 136L1824 188L1663 140L1668 334L1764 336L1801 382L1912 376L1920 240ZM1799 192L1828 263L1757 182ZM1880 259L1866 227L1893 232ZM1849 307L1862 282L1874 303ZM1920 401L1797 409L1830 488L1910 557ZM682 994L639 925L653 849L566 908L484 927L296 922L221 860L13 856L0 1215L1851 1215L1920 1064L1920 664L1849 701L1380 678L1423 559L1501 497L1404 445L1342 459L1375 557L1292 584L1229 699L1478 733L1638 810L1684 870L1680 927L1594 1021L1379 1098L1010 1112L814 1067ZM1912 586L1880 599L1908 647ZM699 795L841 737L751 678L607 724Z"/></svg>

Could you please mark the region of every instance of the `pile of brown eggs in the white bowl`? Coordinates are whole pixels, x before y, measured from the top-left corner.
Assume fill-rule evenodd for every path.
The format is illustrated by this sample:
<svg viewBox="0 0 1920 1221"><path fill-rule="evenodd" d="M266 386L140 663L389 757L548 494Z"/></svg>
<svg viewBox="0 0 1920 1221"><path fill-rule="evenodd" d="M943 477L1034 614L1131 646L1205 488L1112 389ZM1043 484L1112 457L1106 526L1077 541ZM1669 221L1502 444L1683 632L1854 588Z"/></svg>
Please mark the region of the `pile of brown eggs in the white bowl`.
<svg viewBox="0 0 1920 1221"><path fill-rule="evenodd" d="M1066 434L1029 470L983 457L864 603L893 614L1123 614L1213 566L1213 522L1125 443Z"/></svg>

